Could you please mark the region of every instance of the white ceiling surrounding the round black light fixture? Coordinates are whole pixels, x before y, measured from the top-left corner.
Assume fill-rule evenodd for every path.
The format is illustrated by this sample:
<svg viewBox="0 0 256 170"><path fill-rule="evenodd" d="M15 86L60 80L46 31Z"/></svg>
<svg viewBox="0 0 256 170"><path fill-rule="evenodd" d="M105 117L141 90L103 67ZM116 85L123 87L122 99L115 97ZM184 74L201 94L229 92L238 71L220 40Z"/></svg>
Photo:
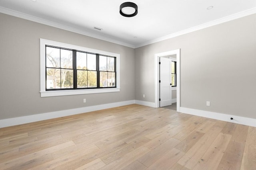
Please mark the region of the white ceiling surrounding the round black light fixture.
<svg viewBox="0 0 256 170"><path fill-rule="evenodd" d="M136 3L138 14L121 16L123 2ZM140 47L220 19L254 14L256 0L0 0L0 12Z"/></svg>

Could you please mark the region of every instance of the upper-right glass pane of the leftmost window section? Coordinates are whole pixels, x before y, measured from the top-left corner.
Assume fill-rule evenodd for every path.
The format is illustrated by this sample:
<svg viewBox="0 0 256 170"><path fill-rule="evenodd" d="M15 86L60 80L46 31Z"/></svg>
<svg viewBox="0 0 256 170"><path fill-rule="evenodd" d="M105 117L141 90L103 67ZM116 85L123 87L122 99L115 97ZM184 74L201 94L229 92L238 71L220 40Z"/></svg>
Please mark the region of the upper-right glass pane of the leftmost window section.
<svg viewBox="0 0 256 170"><path fill-rule="evenodd" d="M73 51L60 49L61 68L73 68Z"/></svg>

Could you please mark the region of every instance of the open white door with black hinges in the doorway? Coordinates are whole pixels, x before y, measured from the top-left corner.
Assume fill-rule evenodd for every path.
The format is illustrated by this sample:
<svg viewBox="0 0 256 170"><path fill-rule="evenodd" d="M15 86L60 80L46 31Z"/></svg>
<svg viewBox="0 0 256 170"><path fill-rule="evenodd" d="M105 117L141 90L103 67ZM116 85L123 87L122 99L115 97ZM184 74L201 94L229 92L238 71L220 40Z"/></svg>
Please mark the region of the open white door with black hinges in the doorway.
<svg viewBox="0 0 256 170"><path fill-rule="evenodd" d="M160 107L172 105L172 60L159 57Z"/></svg>

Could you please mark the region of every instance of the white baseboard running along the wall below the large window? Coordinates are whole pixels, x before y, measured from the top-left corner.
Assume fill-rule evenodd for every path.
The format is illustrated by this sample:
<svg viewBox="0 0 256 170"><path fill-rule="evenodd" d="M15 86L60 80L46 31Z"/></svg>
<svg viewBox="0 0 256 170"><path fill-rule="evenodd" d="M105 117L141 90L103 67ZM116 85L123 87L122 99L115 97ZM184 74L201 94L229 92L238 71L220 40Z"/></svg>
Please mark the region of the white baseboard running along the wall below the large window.
<svg viewBox="0 0 256 170"><path fill-rule="evenodd" d="M112 108L112 107L125 106L125 105L129 105L129 104L135 104L135 100L116 102L116 103L110 103L110 104L102 104L102 105L97 105L97 106L81 107L81 108L76 108L76 109L53 111L53 112L48 112L48 113L36 114L36 115L14 117L14 118L10 118L10 119L2 119L2 120L0 120L0 128L14 126L14 125L20 125L20 124L24 124L24 123L31 123L31 122L35 122L35 121L53 119L53 118L57 118L57 117L76 115L76 114L80 114L80 113L86 113L89 111L96 111L96 110L108 109L108 108Z"/></svg>

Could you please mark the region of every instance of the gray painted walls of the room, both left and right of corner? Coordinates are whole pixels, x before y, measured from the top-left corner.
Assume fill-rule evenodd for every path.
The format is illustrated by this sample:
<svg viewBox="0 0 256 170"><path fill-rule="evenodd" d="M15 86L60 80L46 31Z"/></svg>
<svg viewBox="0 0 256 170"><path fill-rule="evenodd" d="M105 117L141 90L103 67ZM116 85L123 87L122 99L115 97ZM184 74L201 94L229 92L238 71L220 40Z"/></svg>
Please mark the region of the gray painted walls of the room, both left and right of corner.
<svg viewBox="0 0 256 170"><path fill-rule="evenodd" d="M134 50L0 14L0 119L134 99L154 102L154 54L179 48L181 107L255 119L255 21L256 14ZM40 38L119 53L120 92L41 98Z"/></svg>

